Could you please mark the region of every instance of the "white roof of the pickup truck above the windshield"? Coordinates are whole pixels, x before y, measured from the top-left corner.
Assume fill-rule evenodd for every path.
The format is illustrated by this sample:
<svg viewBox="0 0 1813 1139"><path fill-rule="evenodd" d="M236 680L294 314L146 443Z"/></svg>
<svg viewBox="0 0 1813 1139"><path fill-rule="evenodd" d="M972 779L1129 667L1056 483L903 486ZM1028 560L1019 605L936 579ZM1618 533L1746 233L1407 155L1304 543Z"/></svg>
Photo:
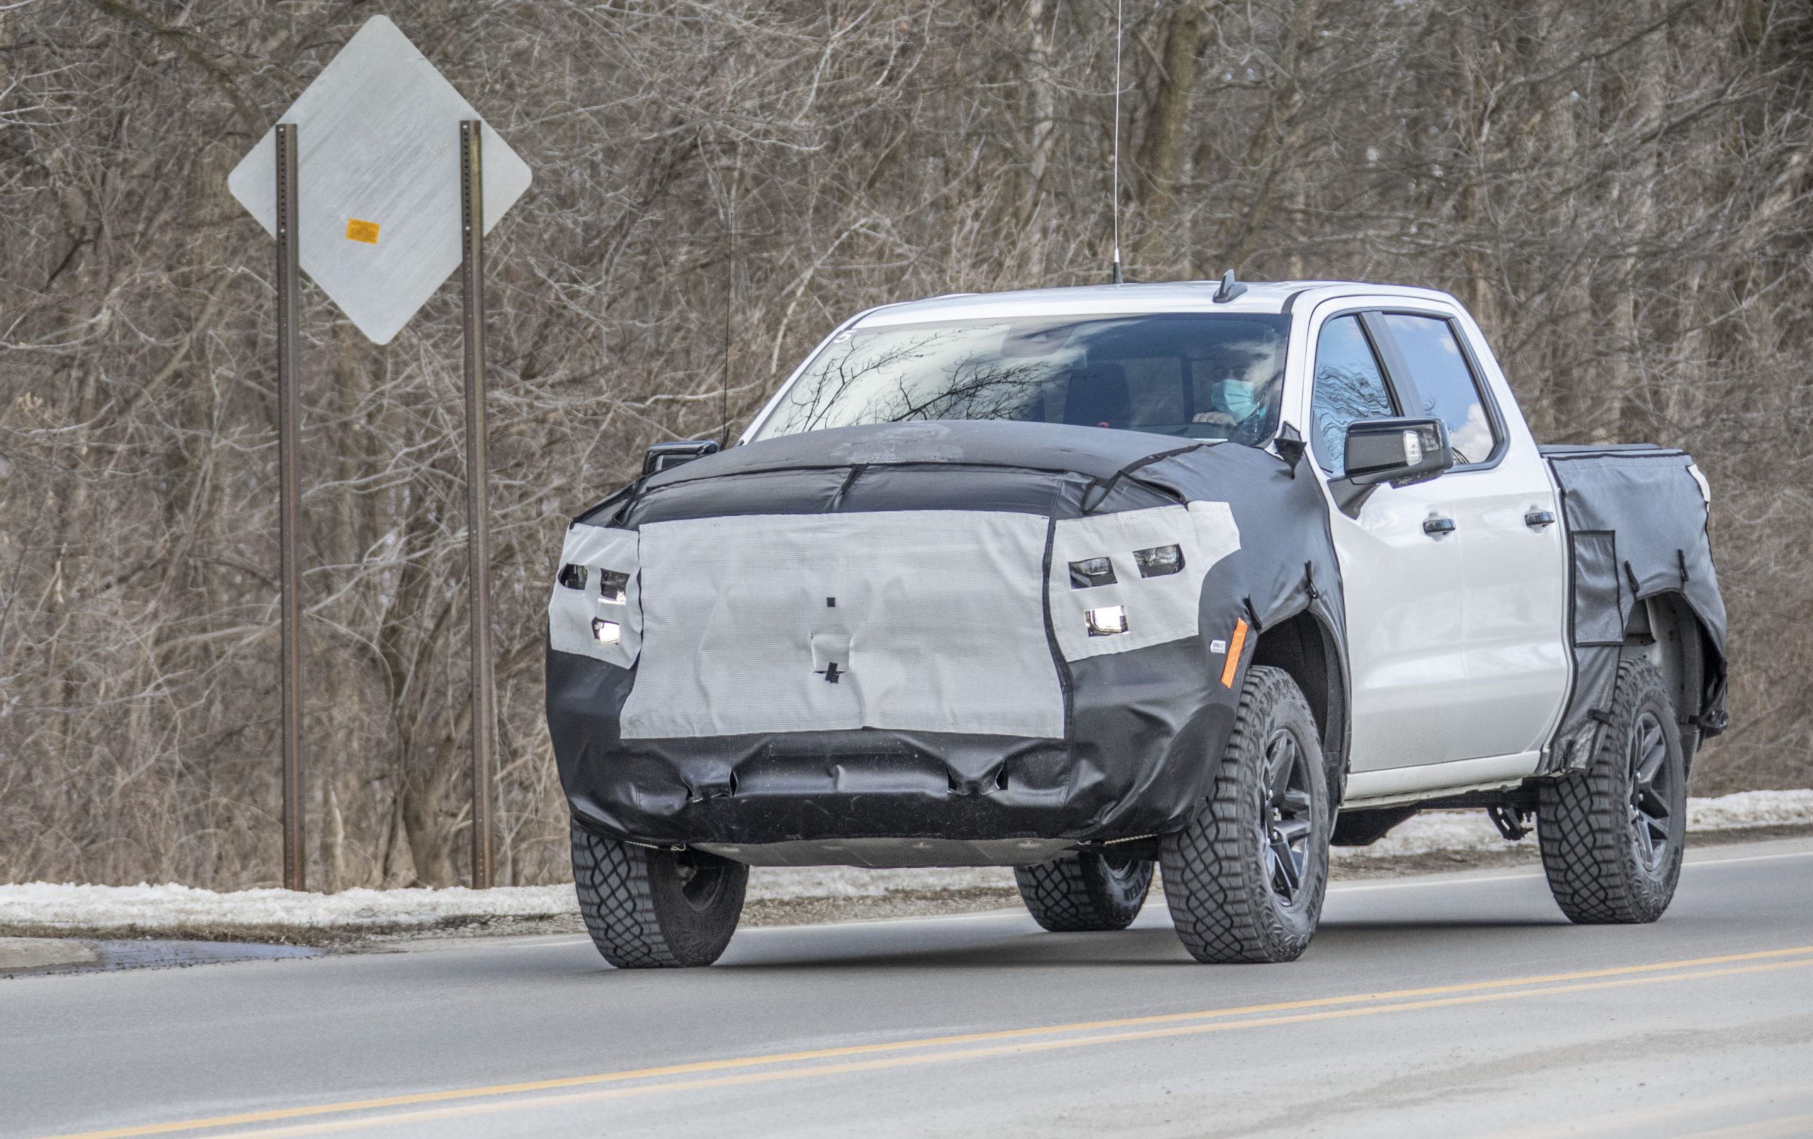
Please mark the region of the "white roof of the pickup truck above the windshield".
<svg viewBox="0 0 1813 1139"><path fill-rule="evenodd" d="M921 301L883 304L856 317L854 326L923 324L988 317L1066 317L1162 311L1287 313L1304 301L1329 295L1400 295L1449 301L1447 293L1401 284L1365 281L1247 281L1233 301L1213 301L1220 281L1168 281L1153 284L1082 284L1071 288L1026 288L1003 293L945 293ZM1305 295L1313 293L1313 295Z"/></svg>

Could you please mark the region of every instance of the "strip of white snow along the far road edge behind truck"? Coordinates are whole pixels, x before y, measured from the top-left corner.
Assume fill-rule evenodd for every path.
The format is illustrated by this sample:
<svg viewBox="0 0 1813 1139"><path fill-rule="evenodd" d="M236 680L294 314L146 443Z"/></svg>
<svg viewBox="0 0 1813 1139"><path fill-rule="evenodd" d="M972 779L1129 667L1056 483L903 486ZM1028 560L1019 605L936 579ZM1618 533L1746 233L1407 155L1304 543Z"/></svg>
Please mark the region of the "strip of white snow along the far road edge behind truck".
<svg viewBox="0 0 1813 1139"><path fill-rule="evenodd" d="M1690 799L1688 828L1719 831L1750 826L1813 826L1813 790L1740 791L1719 799ZM1336 847L1343 862L1365 862L1432 851L1499 847L1503 838L1485 811L1429 811L1367 847ZM1534 842L1525 838L1523 842ZM1012 887L1006 867L854 869L756 867L751 900L859 898L888 893L939 893L975 887ZM0 885L0 925L44 929L194 929L228 925L306 925L314 929L412 929L459 918L546 918L573 914L573 885L506 885L473 891L348 889L310 895L286 889L218 893L189 885L56 885L25 882Z"/></svg>

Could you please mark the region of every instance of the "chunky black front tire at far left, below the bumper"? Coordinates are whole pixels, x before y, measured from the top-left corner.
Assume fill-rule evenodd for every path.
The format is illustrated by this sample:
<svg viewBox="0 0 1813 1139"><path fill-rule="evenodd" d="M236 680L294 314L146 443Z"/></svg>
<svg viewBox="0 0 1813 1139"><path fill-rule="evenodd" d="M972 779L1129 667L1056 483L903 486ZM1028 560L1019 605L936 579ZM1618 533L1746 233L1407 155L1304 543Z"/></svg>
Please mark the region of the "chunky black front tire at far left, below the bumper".
<svg viewBox="0 0 1813 1139"><path fill-rule="evenodd" d="M749 867L703 851L602 838L573 822L573 885L586 933L606 962L684 969L711 965L731 943Z"/></svg>

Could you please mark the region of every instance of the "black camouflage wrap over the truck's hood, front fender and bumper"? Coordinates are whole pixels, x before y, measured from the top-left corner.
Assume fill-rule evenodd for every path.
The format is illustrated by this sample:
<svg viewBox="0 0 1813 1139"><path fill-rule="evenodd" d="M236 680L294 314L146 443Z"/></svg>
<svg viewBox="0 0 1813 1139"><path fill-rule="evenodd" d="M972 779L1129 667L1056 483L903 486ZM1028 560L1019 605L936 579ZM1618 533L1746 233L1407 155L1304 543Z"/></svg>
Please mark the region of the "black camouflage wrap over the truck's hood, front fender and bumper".
<svg viewBox="0 0 1813 1139"><path fill-rule="evenodd" d="M1229 503L1240 529L1240 549L1202 581L1200 634L1079 661L1064 661L1053 641L1064 690L1061 739L874 728L624 739L618 717L636 668L549 650L548 726L575 815L600 833L647 844L1111 842L1171 831L1202 802L1233 726L1240 675L1222 684L1224 657L1209 641L1229 639L1238 621L1251 627L1242 670L1258 645L1309 661L1305 686L1320 688L1311 703L1320 699L1334 724L1325 735L1338 779L1345 621L1327 505L1307 460L1061 424L839 427L664 471L578 522L636 529L722 514L850 511L1061 520L1191 500ZM1046 549L1050 560L1050 536ZM852 771L863 790L839 791Z"/></svg>

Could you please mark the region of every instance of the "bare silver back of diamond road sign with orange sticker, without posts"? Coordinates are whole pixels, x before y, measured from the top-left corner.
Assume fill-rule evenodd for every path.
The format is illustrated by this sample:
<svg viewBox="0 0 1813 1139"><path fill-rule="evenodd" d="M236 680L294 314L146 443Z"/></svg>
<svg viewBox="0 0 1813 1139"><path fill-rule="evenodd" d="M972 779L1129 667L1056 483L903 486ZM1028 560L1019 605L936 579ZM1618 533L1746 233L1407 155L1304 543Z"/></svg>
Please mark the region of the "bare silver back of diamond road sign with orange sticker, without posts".
<svg viewBox="0 0 1813 1139"><path fill-rule="evenodd" d="M459 268L459 123L477 118L395 24L372 16L277 120L297 129L297 263L377 344ZM490 234L529 188L529 167L482 130ZM276 145L267 132L227 177L270 234Z"/></svg>

